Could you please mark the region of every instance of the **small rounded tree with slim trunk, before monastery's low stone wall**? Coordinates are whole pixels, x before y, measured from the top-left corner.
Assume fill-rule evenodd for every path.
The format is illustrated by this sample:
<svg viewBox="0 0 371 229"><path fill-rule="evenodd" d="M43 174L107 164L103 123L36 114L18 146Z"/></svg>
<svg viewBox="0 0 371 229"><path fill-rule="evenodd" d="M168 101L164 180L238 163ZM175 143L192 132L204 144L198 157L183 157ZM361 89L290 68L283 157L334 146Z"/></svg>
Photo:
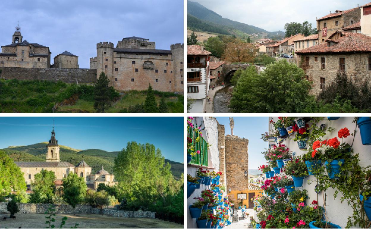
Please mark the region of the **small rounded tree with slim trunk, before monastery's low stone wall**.
<svg viewBox="0 0 371 229"><path fill-rule="evenodd" d="M76 205L85 200L86 189L84 178L78 177L76 173L69 173L63 178L63 199L73 207L73 215Z"/></svg>

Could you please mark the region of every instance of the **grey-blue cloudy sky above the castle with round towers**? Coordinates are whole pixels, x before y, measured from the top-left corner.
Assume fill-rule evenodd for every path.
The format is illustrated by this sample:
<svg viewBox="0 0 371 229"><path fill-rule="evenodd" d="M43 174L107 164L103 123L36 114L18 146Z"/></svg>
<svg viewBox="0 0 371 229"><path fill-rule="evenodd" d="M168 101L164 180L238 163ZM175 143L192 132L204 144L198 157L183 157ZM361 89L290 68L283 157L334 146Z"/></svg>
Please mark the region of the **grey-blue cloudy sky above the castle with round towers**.
<svg viewBox="0 0 371 229"><path fill-rule="evenodd" d="M157 49L183 43L183 0L1 0L0 45L12 43L17 26L23 40L50 47L52 62L65 50L89 68L96 43L116 46L124 37L156 42Z"/></svg>

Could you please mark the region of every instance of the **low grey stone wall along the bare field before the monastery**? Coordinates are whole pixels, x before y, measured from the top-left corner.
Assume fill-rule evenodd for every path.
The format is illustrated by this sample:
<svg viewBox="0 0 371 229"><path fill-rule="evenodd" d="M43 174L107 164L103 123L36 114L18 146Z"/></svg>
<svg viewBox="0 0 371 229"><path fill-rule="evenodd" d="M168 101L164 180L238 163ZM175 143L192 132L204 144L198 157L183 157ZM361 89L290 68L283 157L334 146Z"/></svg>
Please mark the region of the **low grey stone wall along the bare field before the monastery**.
<svg viewBox="0 0 371 229"><path fill-rule="evenodd" d="M10 214L6 209L7 202L0 202L0 213ZM19 203L19 213L44 214L49 205L35 203ZM71 205L53 205L55 214L73 214ZM18 213L18 214L19 214ZM130 217L130 218L155 218L155 212L131 212L92 208L90 205L76 205L75 214L100 214L114 217Z"/></svg>

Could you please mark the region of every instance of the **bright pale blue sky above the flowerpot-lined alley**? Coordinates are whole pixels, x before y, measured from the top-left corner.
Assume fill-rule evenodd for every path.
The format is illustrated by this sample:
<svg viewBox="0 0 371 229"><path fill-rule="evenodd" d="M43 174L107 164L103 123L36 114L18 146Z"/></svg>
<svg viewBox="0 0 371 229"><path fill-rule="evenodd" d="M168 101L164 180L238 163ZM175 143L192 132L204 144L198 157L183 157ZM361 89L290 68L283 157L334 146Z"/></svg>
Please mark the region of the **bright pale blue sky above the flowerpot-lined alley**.
<svg viewBox="0 0 371 229"><path fill-rule="evenodd" d="M219 124L224 125L225 133L231 134L229 117L216 117ZM262 152L268 147L268 143L260 139L262 133L268 132L268 117L233 117L233 134L240 138L249 139L249 169L257 169L266 161Z"/></svg>

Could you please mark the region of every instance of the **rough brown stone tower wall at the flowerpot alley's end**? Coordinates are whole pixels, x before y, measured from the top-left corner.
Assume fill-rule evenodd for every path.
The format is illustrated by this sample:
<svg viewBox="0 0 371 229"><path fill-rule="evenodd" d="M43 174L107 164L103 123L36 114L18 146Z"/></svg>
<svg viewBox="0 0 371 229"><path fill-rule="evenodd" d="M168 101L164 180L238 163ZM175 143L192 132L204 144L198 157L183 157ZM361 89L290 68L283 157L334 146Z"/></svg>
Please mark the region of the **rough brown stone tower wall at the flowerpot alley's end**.
<svg viewBox="0 0 371 229"><path fill-rule="evenodd" d="M249 140L236 135L226 135L225 140L227 188L245 190L248 184L244 172L248 171L249 166L247 152Z"/></svg>

